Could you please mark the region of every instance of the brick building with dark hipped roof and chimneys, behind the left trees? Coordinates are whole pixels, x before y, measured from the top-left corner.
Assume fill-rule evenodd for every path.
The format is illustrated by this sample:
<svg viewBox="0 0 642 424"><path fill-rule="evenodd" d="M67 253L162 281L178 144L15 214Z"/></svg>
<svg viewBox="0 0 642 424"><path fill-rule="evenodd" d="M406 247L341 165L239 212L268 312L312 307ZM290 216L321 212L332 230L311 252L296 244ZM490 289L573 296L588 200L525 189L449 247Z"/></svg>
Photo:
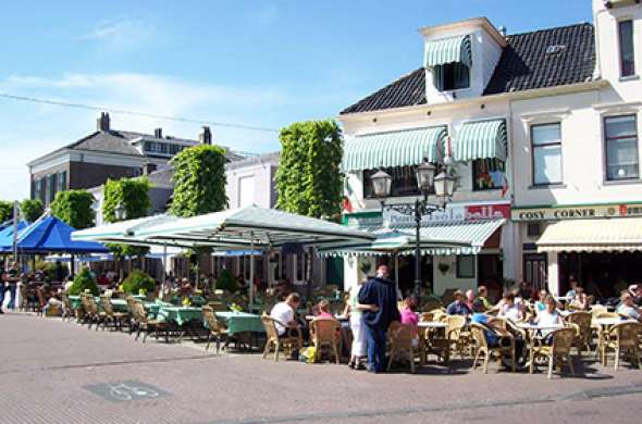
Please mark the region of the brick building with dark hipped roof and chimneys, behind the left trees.
<svg viewBox="0 0 642 424"><path fill-rule="evenodd" d="M181 150L199 142L211 144L203 127L198 140L113 129L109 113L101 113L96 130L77 141L30 161L32 198L49 204L58 191L101 186L108 178L133 177L164 167ZM227 150L230 160L239 159Z"/></svg>

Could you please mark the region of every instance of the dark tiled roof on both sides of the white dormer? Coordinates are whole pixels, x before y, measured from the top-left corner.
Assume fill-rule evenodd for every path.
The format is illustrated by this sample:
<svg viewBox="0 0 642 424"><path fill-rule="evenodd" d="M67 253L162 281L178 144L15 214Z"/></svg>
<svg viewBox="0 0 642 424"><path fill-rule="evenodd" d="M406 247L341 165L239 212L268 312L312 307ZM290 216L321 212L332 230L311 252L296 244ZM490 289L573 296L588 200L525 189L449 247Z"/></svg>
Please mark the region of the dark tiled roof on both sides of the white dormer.
<svg viewBox="0 0 642 424"><path fill-rule="evenodd" d="M590 82L595 70L592 24L576 24L506 37L483 96ZM565 46L547 54L550 46ZM341 114L425 104L425 70L420 67L383 87Z"/></svg>

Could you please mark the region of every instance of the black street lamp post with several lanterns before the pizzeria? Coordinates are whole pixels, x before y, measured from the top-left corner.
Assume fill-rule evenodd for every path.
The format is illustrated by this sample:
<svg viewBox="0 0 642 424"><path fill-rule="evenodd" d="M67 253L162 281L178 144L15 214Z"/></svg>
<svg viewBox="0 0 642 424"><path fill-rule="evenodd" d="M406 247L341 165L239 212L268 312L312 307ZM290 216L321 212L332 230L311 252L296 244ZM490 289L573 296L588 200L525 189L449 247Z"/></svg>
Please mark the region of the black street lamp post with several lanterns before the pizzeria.
<svg viewBox="0 0 642 424"><path fill-rule="evenodd" d="M374 197L381 199L381 208L394 210L405 215L412 215L415 219L415 296L419 299L419 290L421 288L421 219L423 215L431 215L437 210L443 210L446 201L453 197L455 191L456 178L450 175L449 167L453 161L449 157L444 158L444 165L439 175L435 176L437 167L428 160L417 166L417 186L422 195L422 198L415 199L415 204L385 204L385 198L391 194L393 178L383 170L374 173L370 179L372 180L372 191ZM430 203L429 194L434 187L436 198L441 203Z"/></svg>

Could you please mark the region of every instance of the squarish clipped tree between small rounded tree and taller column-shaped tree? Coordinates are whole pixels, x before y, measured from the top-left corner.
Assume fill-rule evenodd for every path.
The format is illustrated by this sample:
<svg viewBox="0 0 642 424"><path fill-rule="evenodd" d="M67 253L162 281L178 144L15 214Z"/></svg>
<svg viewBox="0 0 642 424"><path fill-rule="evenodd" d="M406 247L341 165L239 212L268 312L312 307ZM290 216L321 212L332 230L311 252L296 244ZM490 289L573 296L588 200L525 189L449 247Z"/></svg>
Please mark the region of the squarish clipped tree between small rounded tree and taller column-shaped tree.
<svg viewBox="0 0 642 424"><path fill-rule="evenodd" d="M108 179L102 188L102 216L106 222L113 223L116 219L116 208L125 209L125 219L135 220L147 216L151 207L149 199L149 179L121 178ZM147 247L108 244L107 248L118 258L143 255L149 251Z"/></svg>

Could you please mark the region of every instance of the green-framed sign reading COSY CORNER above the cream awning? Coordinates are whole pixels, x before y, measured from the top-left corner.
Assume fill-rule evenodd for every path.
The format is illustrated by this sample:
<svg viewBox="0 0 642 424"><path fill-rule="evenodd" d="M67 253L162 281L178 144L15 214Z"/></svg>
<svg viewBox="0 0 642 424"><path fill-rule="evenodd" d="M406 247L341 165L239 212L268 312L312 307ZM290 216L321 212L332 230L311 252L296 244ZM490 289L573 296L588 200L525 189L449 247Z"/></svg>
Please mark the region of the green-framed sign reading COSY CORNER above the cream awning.
<svg viewBox="0 0 642 424"><path fill-rule="evenodd" d="M590 220L594 217L642 216L642 204L592 204L552 208L514 208L510 219L516 222Z"/></svg>

